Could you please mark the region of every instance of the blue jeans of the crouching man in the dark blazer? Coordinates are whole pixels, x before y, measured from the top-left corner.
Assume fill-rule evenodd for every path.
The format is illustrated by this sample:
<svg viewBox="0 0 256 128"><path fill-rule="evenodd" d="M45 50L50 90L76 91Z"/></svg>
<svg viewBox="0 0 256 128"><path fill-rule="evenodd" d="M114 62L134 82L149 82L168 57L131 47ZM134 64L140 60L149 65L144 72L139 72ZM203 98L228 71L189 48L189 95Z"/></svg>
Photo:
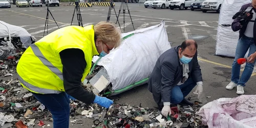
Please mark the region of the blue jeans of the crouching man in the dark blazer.
<svg viewBox="0 0 256 128"><path fill-rule="evenodd" d="M180 86L174 86L171 91L171 99L170 103L179 104L184 97L186 97L191 90L197 85L196 82L193 81L192 78L188 78L183 84Z"/></svg>

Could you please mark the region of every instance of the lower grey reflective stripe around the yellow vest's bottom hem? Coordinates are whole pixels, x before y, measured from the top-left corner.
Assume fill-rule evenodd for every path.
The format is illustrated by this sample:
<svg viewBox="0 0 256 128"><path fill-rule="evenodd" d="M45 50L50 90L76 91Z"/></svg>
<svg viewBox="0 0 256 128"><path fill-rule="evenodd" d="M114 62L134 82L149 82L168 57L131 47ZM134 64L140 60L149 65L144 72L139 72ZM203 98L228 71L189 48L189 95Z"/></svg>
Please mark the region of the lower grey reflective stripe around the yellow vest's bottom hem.
<svg viewBox="0 0 256 128"><path fill-rule="evenodd" d="M42 93L42 94L51 94L51 93L54 93L54 94L59 94L61 93L60 91L56 91L56 90L50 90L50 89L42 89L42 88L38 88L36 86L33 86L32 84L26 82L22 77L20 77L18 75L18 80L20 83L23 84L23 86L26 86L28 89L30 90L33 90L35 92L38 92L38 93Z"/></svg>

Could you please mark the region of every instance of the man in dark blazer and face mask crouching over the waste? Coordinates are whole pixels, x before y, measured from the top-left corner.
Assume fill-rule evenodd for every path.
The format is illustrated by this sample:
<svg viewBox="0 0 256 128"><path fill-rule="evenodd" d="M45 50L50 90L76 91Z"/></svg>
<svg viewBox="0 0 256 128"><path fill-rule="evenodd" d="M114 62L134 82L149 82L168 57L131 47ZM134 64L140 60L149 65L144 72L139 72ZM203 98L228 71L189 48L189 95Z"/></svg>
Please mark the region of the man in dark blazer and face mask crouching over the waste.
<svg viewBox="0 0 256 128"><path fill-rule="evenodd" d="M201 69L197 59L197 42L185 40L181 46L165 51L157 60L148 81L148 90L163 116L170 114L170 103L193 105L185 97L195 87L198 96L203 92Z"/></svg>

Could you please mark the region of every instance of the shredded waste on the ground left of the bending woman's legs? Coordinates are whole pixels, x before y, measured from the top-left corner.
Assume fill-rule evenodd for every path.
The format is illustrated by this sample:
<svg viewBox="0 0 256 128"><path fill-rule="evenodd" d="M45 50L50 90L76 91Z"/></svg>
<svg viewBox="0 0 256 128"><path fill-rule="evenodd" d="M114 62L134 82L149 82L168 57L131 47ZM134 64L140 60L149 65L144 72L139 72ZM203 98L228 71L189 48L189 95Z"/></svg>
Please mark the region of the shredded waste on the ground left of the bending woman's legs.
<svg viewBox="0 0 256 128"><path fill-rule="evenodd" d="M21 55L19 51L14 56L0 60L0 127L22 126L22 124L32 126L35 125L36 119L52 120L44 104L37 101L32 93L22 88L18 79L14 78ZM10 79L6 78L8 76Z"/></svg>

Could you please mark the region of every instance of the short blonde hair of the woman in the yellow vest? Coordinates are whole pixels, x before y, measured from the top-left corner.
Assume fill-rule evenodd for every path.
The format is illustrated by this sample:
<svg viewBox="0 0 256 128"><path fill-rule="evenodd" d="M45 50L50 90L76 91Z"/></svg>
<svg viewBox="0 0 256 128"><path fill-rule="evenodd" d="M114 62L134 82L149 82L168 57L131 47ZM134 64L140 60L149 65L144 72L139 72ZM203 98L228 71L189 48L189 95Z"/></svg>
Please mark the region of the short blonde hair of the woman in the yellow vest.
<svg viewBox="0 0 256 128"><path fill-rule="evenodd" d="M94 36L117 48L121 44L121 30L114 24L99 22L94 26Z"/></svg>

